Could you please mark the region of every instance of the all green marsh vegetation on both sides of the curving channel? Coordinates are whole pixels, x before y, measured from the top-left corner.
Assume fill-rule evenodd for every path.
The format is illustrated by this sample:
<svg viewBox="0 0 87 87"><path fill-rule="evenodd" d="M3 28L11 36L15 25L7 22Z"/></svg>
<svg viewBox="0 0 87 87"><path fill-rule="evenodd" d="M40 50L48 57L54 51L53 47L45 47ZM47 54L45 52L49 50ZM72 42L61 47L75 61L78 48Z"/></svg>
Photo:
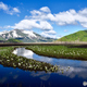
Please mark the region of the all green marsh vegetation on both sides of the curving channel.
<svg viewBox="0 0 87 87"><path fill-rule="evenodd" d="M40 55L87 60L86 48L71 48L71 46L23 46L23 47L25 47L28 50L33 50L35 53ZM0 64L4 66L20 67L29 71L57 72L58 70L61 70L60 66L58 65L51 65L50 63L40 62L33 59L26 59L25 57L18 57L16 54L13 54L12 51L16 48L22 48L22 46L0 47Z"/></svg>

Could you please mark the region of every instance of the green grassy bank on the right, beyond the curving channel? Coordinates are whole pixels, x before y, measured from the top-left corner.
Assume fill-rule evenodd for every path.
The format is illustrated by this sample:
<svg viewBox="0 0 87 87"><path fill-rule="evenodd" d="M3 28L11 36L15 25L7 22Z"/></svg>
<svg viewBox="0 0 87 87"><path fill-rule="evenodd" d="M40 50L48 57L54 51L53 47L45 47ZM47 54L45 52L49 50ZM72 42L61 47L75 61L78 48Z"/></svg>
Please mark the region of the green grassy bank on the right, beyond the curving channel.
<svg viewBox="0 0 87 87"><path fill-rule="evenodd" d="M86 48L71 48L70 46L27 46L26 49L33 50L40 55L87 60Z"/></svg>

